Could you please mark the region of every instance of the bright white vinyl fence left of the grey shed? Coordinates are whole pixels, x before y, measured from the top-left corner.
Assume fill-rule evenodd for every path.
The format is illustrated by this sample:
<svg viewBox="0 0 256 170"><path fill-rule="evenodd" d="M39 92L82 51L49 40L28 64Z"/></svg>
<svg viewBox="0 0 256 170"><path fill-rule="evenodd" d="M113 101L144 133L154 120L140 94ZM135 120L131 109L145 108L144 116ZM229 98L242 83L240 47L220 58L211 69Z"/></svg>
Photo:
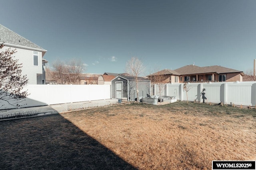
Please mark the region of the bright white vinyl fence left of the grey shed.
<svg viewBox="0 0 256 170"><path fill-rule="evenodd" d="M23 88L30 94L19 104L22 107L46 106L111 98L110 85L27 85ZM16 102L16 101L14 101ZM7 102L0 101L4 106L0 109L17 108Z"/></svg>

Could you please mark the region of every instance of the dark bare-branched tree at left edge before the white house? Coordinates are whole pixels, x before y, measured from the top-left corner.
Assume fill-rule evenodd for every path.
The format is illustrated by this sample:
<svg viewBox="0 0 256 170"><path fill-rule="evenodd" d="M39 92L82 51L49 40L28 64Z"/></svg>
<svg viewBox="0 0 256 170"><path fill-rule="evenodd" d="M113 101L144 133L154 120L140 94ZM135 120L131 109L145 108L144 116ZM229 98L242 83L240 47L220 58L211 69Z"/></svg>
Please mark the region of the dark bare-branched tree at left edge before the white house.
<svg viewBox="0 0 256 170"><path fill-rule="evenodd" d="M0 45L0 49L4 47ZM22 64L12 56L16 49L6 49L0 53L0 103L8 102L12 106L20 106L22 99L28 96L27 91L22 90L28 83L26 75L22 76ZM0 104L0 107L4 104Z"/></svg>

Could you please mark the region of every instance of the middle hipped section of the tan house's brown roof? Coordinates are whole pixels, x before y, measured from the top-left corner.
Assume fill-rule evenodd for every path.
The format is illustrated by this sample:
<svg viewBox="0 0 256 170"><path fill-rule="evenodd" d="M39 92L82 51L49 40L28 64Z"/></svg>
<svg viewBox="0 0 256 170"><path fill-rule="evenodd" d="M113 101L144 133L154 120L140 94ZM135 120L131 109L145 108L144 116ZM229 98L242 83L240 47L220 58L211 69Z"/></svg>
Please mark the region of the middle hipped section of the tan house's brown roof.
<svg viewBox="0 0 256 170"><path fill-rule="evenodd" d="M174 70L178 72L180 75L187 75L187 74L205 74L205 73L214 73L216 71L209 70L203 67L199 67L196 65L187 65Z"/></svg>

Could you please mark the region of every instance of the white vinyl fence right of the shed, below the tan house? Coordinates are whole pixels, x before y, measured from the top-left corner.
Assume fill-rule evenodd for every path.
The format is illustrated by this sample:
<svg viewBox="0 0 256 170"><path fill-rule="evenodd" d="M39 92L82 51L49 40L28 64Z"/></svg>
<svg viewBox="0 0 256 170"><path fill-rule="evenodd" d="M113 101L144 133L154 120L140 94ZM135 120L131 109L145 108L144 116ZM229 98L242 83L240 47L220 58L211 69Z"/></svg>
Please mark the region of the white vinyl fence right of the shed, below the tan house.
<svg viewBox="0 0 256 170"><path fill-rule="evenodd" d="M256 82L208 82L188 83L188 101L202 102L202 90L205 88L205 102L234 104L242 106L256 105ZM176 96L177 100L186 101L184 83L165 84L162 96ZM154 85L153 95L160 95L158 86Z"/></svg>

